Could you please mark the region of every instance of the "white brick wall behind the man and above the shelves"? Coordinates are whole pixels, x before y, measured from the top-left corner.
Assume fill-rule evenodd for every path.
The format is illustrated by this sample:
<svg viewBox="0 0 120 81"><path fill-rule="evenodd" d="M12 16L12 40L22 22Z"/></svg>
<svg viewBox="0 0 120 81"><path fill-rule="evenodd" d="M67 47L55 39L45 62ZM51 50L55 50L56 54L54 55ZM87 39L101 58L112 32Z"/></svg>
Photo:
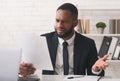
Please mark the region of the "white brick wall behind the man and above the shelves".
<svg viewBox="0 0 120 81"><path fill-rule="evenodd" d="M120 0L100 1L0 0L0 46L14 46L15 40L13 36L16 32L35 32L41 34L54 30L56 8L64 2L72 2L81 9L120 8ZM115 2L114 5L113 2Z"/></svg>

